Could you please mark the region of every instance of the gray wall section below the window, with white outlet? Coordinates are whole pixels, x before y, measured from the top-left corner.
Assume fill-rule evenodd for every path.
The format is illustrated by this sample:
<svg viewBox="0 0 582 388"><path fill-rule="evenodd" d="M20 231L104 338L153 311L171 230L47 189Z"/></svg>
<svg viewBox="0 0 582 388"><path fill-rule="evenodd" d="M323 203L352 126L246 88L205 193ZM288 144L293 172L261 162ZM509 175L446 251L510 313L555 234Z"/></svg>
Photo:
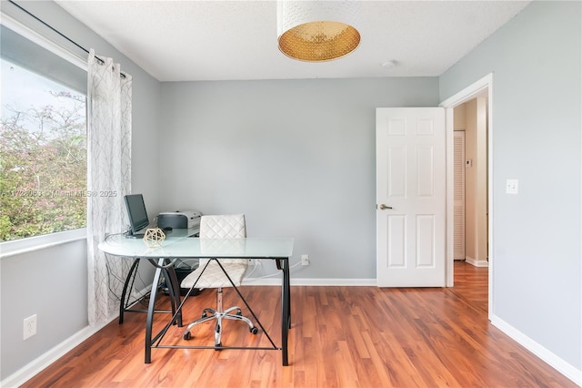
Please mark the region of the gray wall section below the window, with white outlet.
<svg viewBox="0 0 582 388"><path fill-rule="evenodd" d="M4 379L87 326L86 242L80 240L0 260ZM36 314L36 335L23 320Z"/></svg>

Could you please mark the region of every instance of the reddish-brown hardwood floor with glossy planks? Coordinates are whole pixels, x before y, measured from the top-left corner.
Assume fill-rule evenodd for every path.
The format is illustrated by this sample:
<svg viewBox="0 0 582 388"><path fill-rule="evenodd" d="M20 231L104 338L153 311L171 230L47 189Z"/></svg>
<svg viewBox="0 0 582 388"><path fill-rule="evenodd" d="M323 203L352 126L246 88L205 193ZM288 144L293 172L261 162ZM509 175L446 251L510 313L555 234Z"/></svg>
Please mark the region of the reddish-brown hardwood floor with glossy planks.
<svg viewBox="0 0 582 388"><path fill-rule="evenodd" d="M292 287L286 367L280 352L241 350L154 349L152 363L145 364L145 316L132 313L124 324L108 324L23 386L577 386L487 322L487 269L460 262L456 271L452 290ZM280 343L280 289L241 290ZM207 290L189 300L186 322L196 319L202 307L213 306L215 295ZM234 295L226 289L225 305L233 304ZM191 342L212 344L212 328L197 328ZM164 341L182 343L181 336L174 327ZM268 342L263 333L254 336L246 325L229 321L223 343Z"/></svg>

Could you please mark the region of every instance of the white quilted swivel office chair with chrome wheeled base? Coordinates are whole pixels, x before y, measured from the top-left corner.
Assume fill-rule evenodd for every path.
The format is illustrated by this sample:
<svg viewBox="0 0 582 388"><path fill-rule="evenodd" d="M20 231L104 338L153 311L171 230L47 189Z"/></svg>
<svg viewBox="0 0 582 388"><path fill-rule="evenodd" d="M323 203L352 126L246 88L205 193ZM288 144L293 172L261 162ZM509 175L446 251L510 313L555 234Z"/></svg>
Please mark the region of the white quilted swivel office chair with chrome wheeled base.
<svg viewBox="0 0 582 388"><path fill-rule="evenodd" d="M234 215L218 215L218 216L202 216L200 219L200 242L204 248L204 244L213 244L213 251L219 250L216 245L220 244L219 239L241 239L246 237L246 223L244 214L234 214ZM217 240L204 240L204 239L217 239ZM232 249L232 246L229 247ZM248 260L246 259L219 259L220 264L223 266L225 271L228 273L230 279L235 283L235 286L239 286L243 281L246 274L246 269L248 268ZM228 278L226 278L225 272L222 271L220 266L216 263L216 260L201 259L196 271L191 272L182 281L181 287L190 289L196 279L200 279L196 282L196 288L207 289L207 288L217 288L216 291L216 310L214 309L204 309L202 312L202 317L195 322L191 322L186 326L183 338L189 340L192 338L190 330L198 324L216 319L215 326L215 346L222 347L221 334L222 334L222 320L236 320L246 322L249 327L249 331L253 334L258 332L256 326L248 318L242 315L242 311L239 307L230 307L223 311L222 306L222 289L223 287L232 287ZM206 271L203 272L206 263ZM236 311L236 313L231 313Z"/></svg>

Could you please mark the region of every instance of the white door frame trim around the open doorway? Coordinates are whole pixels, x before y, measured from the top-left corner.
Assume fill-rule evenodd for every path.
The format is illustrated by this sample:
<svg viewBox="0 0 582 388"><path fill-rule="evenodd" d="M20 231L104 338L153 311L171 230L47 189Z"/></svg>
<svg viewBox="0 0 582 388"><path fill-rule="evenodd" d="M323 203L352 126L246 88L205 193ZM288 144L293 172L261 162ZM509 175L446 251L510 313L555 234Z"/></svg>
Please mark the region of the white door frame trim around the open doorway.
<svg viewBox="0 0 582 388"><path fill-rule="evenodd" d="M493 289L493 73L477 80L477 82L465 87L452 97L448 97L438 106L446 109L446 133L447 133L447 287L454 285L454 259L453 259L453 193L454 193L454 160L453 160L453 110L458 105L467 102L481 94L487 93L487 250L489 252L489 266L488 266L488 303L487 313L488 319L491 321L493 311L493 301L495 290Z"/></svg>

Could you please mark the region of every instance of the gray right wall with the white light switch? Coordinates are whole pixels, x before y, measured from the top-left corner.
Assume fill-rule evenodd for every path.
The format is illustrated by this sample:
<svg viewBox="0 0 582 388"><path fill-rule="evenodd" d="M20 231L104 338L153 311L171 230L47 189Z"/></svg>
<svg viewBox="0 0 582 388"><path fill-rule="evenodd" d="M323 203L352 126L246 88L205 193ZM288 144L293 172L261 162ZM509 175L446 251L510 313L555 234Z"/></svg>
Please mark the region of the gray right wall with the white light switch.
<svg viewBox="0 0 582 388"><path fill-rule="evenodd" d="M444 100L494 72L493 313L578 371L581 14L579 2L534 2L440 77Z"/></svg>

